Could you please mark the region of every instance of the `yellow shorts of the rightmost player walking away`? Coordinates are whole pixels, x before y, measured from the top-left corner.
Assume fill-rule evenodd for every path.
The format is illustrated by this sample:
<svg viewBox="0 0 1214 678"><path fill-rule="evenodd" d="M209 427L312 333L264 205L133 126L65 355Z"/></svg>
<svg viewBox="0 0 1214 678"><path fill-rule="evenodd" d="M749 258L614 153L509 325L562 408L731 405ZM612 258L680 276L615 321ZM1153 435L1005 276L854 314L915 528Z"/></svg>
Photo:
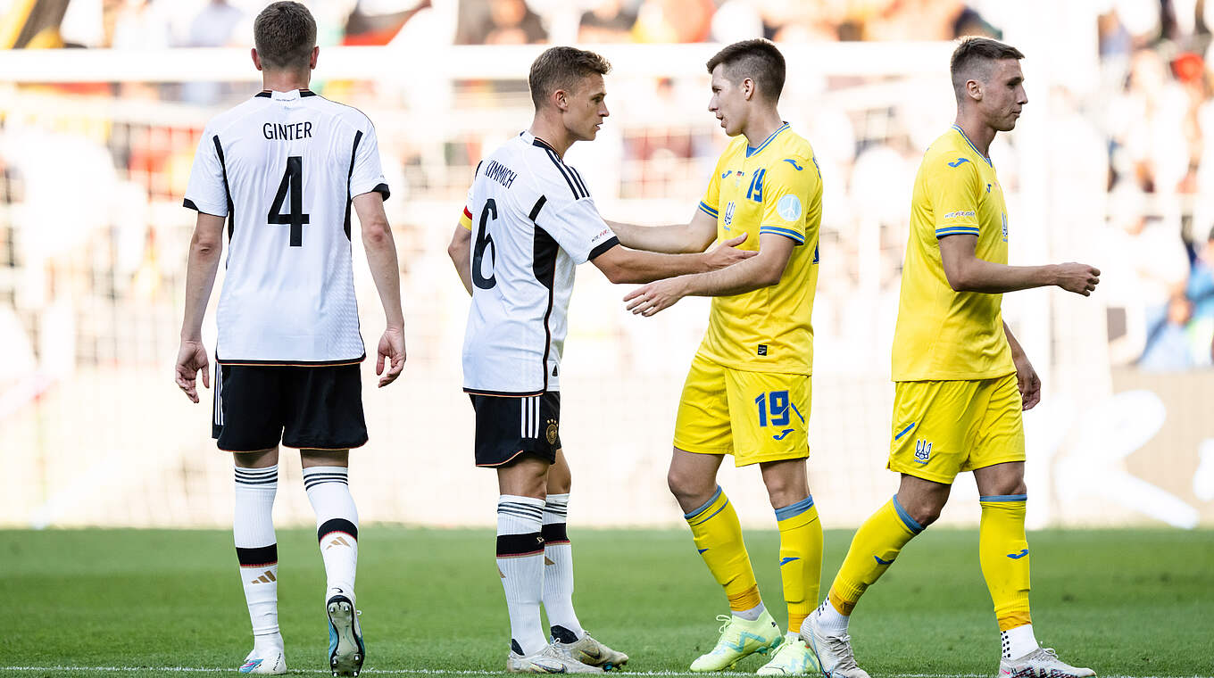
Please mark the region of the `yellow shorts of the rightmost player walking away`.
<svg viewBox="0 0 1214 678"><path fill-rule="evenodd" d="M897 382L886 468L952 484L963 471L1025 461L1021 412L1015 374Z"/></svg>

